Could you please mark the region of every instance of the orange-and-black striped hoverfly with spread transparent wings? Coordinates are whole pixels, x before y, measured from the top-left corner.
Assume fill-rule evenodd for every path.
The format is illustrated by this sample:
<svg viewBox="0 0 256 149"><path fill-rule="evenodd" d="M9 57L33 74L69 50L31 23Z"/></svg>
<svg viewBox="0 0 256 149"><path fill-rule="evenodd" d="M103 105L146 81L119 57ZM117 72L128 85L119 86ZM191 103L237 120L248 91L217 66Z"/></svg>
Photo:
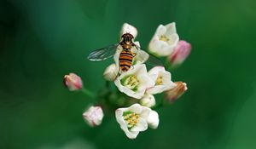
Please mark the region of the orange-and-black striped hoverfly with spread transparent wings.
<svg viewBox="0 0 256 149"><path fill-rule="evenodd" d="M153 55L149 57L148 53L134 43L134 37L130 33L123 34L119 43L94 50L87 58L89 60L106 60L115 54L119 46L122 48L119 54L119 70L122 72L127 72L131 68L135 56L140 57L142 60L148 59L151 66L162 66L160 60L154 58ZM132 52L132 48L137 49L137 52Z"/></svg>

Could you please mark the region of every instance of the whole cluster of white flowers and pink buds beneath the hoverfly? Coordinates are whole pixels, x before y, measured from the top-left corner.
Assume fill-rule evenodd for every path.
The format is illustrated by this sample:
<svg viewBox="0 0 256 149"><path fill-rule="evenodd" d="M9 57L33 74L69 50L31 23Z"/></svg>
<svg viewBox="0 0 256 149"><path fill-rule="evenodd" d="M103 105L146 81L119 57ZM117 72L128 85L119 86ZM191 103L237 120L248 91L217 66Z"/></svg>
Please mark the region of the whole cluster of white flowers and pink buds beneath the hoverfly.
<svg viewBox="0 0 256 149"><path fill-rule="evenodd" d="M121 35L130 33L137 37L137 29L125 23L121 29ZM131 53L135 54L128 71L120 71L119 55L124 50L121 45L113 55L114 63L108 66L103 73L103 77L112 81L118 89L113 92L107 89L106 93L100 93L97 97L99 105L90 106L83 114L84 120L94 127L102 123L103 111L109 112L111 107L115 110L115 117L124 130L125 135L130 139L135 139L139 132L152 128L157 129L159 125L159 114L156 110L167 103L173 103L187 90L187 84L183 82L173 82L170 66L177 67L189 55L191 46L189 43L179 40L175 23L166 26L160 25L152 40L148 44L149 53L157 57L166 57L166 66L154 66L148 69L147 62L150 54L138 49L139 42L135 42L131 47ZM151 56L152 57L152 56ZM84 89L79 77L73 78L74 74L66 75L64 83L70 90L81 89L85 94L91 93ZM83 88L83 89L82 89ZM90 93L90 94L89 94ZM165 93L166 100L157 100L154 95ZM102 111L103 108L103 111Z"/></svg>

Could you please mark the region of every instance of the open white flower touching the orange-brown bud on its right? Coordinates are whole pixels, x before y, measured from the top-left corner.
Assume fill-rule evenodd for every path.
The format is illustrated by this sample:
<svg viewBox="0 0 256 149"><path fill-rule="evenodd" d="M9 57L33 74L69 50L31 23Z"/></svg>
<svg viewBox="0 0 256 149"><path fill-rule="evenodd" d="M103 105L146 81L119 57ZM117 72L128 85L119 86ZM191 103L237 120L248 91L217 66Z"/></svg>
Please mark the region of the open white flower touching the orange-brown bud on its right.
<svg viewBox="0 0 256 149"><path fill-rule="evenodd" d="M163 91L172 89L176 86L171 80L171 73L166 72L163 66L154 66L149 72L148 76L154 81L155 85L147 90L148 94L160 94Z"/></svg>

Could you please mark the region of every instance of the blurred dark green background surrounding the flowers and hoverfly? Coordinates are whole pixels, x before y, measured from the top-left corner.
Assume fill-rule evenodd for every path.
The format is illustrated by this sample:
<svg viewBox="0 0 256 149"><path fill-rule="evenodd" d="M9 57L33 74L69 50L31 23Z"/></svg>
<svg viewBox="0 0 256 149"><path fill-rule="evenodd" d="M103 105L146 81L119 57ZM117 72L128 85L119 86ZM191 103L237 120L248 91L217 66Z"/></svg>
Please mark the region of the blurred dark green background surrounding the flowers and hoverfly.
<svg viewBox="0 0 256 149"><path fill-rule="evenodd" d="M255 8L253 0L2 0L0 148L256 148ZM147 47L156 27L172 21L192 44L172 72L188 92L136 140L114 117L91 129L82 118L90 100L62 77L76 72L96 92L112 60L86 60L92 49L119 41L125 22Z"/></svg>

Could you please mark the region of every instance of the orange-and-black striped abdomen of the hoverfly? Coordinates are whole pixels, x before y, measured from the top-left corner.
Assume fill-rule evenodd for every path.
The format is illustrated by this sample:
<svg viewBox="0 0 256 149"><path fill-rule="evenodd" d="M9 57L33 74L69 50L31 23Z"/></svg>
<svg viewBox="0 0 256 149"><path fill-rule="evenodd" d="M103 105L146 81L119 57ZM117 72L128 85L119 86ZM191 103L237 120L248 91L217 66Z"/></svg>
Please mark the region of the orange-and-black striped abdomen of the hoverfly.
<svg viewBox="0 0 256 149"><path fill-rule="evenodd" d="M122 50L119 55L119 66L122 72L127 72L131 68L133 54L130 50Z"/></svg>

